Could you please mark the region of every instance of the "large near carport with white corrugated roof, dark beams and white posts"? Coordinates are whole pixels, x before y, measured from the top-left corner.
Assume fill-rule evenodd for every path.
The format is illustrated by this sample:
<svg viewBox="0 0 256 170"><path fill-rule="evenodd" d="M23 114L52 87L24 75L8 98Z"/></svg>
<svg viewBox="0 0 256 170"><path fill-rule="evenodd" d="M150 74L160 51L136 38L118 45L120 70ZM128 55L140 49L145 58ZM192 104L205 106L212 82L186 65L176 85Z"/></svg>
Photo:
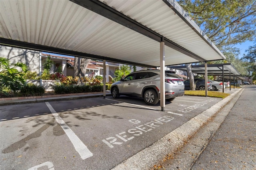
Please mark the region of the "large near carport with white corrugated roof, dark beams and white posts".
<svg viewBox="0 0 256 170"><path fill-rule="evenodd" d="M0 3L1 45L98 59L104 69L106 61L160 66L162 111L164 66L225 59L175 0Z"/></svg>

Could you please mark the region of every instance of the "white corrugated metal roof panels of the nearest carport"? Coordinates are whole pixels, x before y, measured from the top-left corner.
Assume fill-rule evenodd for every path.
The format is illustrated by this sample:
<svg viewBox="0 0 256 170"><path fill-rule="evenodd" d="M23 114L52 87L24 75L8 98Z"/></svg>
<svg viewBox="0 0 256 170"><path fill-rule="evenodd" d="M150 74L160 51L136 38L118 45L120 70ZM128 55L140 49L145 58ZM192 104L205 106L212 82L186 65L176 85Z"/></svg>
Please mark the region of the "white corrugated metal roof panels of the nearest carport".
<svg viewBox="0 0 256 170"><path fill-rule="evenodd" d="M223 58L162 0L101 1L205 60ZM158 41L69 0L1 0L0 3L1 38L160 65ZM197 61L165 46L166 65Z"/></svg>

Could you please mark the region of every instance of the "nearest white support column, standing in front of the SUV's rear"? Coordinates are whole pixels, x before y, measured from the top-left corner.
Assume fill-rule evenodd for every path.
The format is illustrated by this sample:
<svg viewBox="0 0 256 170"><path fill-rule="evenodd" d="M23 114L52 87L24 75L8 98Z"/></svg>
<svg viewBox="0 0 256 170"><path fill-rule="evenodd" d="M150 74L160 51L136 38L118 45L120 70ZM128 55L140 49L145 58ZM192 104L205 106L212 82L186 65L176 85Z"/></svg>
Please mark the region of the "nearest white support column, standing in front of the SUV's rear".
<svg viewBox="0 0 256 170"><path fill-rule="evenodd" d="M165 72L164 72L164 42L160 42L160 106L161 111L164 111L165 107Z"/></svg>

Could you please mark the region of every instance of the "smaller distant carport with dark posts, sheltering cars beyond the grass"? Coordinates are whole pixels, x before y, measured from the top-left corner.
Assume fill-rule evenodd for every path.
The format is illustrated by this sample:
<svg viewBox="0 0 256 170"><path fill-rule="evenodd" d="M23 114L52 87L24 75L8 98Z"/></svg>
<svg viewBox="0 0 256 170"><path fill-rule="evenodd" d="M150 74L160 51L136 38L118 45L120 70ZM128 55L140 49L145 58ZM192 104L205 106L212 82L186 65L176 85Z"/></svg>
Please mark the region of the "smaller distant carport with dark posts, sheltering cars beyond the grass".
<svg viewBox="0 0 256 170"><path fill-rule="evenodd" d="M192 73L196 74L204 74L206 75L221 75L222 77L229 76L229 80L231 82L231 74L237 79L240 73L236 70L236 68L231 63L224 63L224 64L210 64L207 65L207 73L204 65L191 65ZM170 68L178 69L182 71L187 71L186 65L178 65L178 66L170 66ZM224 79L222 79L222 83L224 84ZM229 87L231 90L231 86ZM235 87L234 87L235 88ZM222 92L224 93L224 86L222 88Z"/></svg>

